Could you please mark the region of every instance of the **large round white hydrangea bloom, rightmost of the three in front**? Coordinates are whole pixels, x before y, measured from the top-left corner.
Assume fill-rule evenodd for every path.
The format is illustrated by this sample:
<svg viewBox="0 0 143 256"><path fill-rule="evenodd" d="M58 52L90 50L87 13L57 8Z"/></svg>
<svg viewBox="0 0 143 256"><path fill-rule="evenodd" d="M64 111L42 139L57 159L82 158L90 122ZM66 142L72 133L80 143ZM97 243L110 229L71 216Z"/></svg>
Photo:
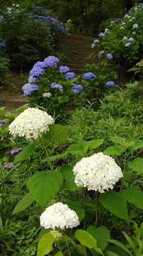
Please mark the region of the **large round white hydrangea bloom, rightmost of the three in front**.
<svg viewBox="0 0 143 256"><path fill-rule="evenodd" d="M113 189L120 177L123 177L121 168L113 158L102 152L82 158L73 168L77 186L87 186L88 190L104 193L105 189Z"/></svg>

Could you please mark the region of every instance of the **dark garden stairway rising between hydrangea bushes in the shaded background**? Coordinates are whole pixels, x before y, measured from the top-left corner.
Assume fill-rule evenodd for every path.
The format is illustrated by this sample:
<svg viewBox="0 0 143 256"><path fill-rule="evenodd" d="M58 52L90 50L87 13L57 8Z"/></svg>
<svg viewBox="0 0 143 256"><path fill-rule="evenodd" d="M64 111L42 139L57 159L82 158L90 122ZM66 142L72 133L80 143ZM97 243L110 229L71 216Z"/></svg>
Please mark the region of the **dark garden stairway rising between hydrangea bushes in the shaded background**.
<svg viewBox="0 0 143 256"><path fill-rule="evenodd" d="M62 46L64 51L67 52L67 58L64 59L63 65L70 68L70 72L83 73L86 71L85 64L98 64L101 59L97 54L93 54L90 58L89 55L93 53L91 44L94 43L95 37L90 35L74 34L70 37L64 38Z"/></svg>

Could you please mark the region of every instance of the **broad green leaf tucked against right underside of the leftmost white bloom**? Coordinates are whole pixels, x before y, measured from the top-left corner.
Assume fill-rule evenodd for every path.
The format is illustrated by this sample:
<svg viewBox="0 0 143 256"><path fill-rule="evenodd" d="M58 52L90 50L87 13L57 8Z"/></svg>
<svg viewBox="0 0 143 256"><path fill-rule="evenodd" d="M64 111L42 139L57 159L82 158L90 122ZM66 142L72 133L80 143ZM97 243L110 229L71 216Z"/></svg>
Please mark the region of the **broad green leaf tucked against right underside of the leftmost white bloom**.
<svg viewBox="0 0 143 256"><path fill-rule="evenodd" d="M46 140L64 142L68 136L68 128L63 125L49 125L49 131L44 134Z"/></svg>

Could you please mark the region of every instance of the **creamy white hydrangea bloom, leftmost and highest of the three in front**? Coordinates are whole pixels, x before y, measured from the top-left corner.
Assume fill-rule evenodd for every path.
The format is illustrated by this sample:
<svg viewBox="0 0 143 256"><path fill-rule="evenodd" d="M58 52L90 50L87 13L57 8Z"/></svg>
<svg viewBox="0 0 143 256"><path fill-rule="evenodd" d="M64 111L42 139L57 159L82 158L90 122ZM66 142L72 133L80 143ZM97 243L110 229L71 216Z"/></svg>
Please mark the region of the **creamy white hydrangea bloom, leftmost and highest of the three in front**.
<svg viewBox="0 0 143 256"><path fill-rule="evenodd" d="M49 131L49 126L54 124L54 119L45 111L29 108L24 110L9 126L10 134L14 137L38 138L41 132Z"/></svg>

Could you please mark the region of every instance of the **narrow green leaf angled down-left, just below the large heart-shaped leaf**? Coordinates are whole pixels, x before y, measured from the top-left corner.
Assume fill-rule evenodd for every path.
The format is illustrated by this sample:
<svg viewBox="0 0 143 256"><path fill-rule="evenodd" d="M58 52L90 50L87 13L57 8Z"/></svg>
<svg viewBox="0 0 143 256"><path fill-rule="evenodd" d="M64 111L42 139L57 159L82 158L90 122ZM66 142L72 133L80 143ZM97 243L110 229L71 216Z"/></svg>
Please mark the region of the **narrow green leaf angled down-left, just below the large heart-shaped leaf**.
<svg viewBox="0 0 143 256"><path fill-rule="evenodd" d="M28 193L26 194L19 202L18 204L15 206L13 213L18 213L18 212L22 212L23 210L25 210L27 207L29 207L32 203L33 203L34 199L33 197Z"/></svg>

